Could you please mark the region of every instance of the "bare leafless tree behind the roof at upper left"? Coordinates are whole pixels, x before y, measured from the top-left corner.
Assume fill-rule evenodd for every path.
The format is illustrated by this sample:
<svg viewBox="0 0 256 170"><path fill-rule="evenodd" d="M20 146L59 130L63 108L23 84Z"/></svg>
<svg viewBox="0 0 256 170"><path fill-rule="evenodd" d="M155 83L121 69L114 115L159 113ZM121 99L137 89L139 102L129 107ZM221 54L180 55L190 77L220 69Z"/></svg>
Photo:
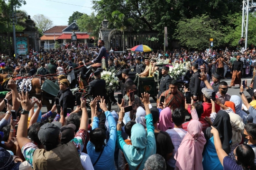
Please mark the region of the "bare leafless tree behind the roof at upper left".
<svg viewBox="0 0 256 170"><path fill-rule="evenodd" d="M43 14L34 15L32 19L36 23L36 27L42 32L45 32L46 30L53 27L53 21L45 17Z"/></svg>

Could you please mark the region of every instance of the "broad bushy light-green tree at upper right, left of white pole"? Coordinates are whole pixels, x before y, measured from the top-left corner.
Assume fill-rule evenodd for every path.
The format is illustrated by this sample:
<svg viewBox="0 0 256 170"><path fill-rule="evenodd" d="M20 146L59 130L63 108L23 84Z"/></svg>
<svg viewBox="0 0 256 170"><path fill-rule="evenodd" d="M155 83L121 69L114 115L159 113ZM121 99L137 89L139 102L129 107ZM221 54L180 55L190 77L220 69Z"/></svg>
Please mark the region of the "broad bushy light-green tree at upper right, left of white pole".
<svg viewBox="0 0 256 170"><path fill-rule="evenodd" d="M182 19L177 22L174 38L181 45L199 50L209 48L210 38L213 38L214 46L219 46L223 44L224 37L219 24L219 19L211 19L207 15Z"/></svg>

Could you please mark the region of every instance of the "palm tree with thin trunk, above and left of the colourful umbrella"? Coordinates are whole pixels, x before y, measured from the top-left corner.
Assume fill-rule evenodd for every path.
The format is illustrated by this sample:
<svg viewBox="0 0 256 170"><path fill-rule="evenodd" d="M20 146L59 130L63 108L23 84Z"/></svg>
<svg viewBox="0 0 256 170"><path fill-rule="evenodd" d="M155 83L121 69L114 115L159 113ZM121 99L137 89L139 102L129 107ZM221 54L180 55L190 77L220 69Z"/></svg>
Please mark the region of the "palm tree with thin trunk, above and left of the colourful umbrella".
<svg viewBox="0 0 256 170"><path fill-rule="evenodd" d="M109 34L109 41L111 36L120 33L122 34L122 41L123 41L123 51L124 51L124 32L132 30L132 24L135 22L133 18L127 18L123 13L121 13L118 10L115 10L112 12L112 18L113 25L116 27L112 31L110 31ZM130 27L127 27L127 25L130 25Z"/></svg>

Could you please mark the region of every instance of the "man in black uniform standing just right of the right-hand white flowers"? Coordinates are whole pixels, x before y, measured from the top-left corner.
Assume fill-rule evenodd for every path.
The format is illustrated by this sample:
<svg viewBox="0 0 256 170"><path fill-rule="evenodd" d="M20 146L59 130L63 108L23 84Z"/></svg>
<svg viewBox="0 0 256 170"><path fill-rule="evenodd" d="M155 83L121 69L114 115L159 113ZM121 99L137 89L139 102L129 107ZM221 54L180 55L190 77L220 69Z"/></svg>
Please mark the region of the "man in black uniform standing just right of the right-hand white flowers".
<svg viewBox="0 0 256 170"><path fill-rule="evenodd" d="M200 72L198 72L198 63L192 64L192 71L194 72L191 77L191 81L189 83L189 88L191 91L191 95L193 95L194 101L197 101L200 97L200 84L201 78Z"/></svg>

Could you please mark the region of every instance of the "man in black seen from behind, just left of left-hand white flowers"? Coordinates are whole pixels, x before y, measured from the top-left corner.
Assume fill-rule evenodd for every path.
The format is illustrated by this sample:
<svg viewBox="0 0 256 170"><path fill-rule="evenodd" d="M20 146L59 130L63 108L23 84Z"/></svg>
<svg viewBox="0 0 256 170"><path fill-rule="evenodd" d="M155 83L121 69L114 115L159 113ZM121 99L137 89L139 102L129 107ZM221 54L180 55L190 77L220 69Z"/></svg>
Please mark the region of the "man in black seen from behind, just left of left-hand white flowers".
<svg viewBox="0 0 256 170"><path fill-rule="evenodd" d="M92 95L93 98L97 96L107 97L106 81L101 79L101 71L96 70L94 72L95 80L91 81L89 84L89 94Z"/></svg>

